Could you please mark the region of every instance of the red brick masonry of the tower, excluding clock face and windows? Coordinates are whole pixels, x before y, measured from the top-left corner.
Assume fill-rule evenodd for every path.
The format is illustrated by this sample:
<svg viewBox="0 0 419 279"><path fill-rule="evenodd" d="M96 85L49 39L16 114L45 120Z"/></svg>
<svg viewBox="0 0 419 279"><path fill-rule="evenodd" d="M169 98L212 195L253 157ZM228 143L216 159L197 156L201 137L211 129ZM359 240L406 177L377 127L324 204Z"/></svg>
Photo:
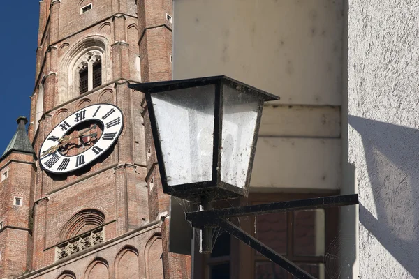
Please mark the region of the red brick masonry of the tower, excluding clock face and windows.
<svg viewBox="0 0 419 279"><path fill-rule="evenodd" d="M0 188L4 192L1 194L8 198L0 200L0 214L7 212L13 222L31 227L34 210L32 235L28 230L0 232L0 251L9 251L8 247L17 251L7 255L8 262L15 263L14 274L31 271L21 278L161 279L163 274L165 278L189 278L190 259L168 252L169 199L161 189L151 130L143 119L147 117L144 96L128 89L128 82L171 79L172 24L166 14L172 15L172 2L137 2L40 3L36 82L28 131L36 153L54 126L87 105L117 105L124 115L124 129L110 151L78 172L54 175L35 165L9 166L22 175L16 176L19 181L1 182L0 186L7 185ZM89 3L92 9L80 14L80 8ZM103 85L80 95L74 61L94 47L103 52ZM34 130L38 87L43 80L43 116ZM27 155L10 154L16 160L29 160L24 156ZM0 170L3 167L2 161ZM14 192L10 190L12 185ZM12 195L24 198L24 205L13 212L6 209ZM57 262L57 245L66 241L60 233L75 214L86 209L105 216L105 243ZM158 224L155 220L160 215L166 217ZM150 222L155 225L150 227ZM87 225L78 232L82 234L91 228ZM10 246L16 241L15 246ZM17 259L15 255L27 257ZM138 268L132 269L136 264ZM0 265L5 266L5 262L0 260Z"/></svg>

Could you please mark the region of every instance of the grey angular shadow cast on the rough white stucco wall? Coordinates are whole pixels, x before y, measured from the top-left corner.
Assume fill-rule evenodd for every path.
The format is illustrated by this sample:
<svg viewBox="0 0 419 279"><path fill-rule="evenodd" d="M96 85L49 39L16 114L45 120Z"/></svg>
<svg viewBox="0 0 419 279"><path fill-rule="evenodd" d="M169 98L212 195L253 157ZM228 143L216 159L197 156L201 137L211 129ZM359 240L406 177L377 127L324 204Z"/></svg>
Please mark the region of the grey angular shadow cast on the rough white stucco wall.
<svg viewBox="0 0 419 279"><path fill-rule="evenodd" d="M419 130L357 116L348 123L362 137L371 184L360 184L360 223L419 278Z"/></svg>

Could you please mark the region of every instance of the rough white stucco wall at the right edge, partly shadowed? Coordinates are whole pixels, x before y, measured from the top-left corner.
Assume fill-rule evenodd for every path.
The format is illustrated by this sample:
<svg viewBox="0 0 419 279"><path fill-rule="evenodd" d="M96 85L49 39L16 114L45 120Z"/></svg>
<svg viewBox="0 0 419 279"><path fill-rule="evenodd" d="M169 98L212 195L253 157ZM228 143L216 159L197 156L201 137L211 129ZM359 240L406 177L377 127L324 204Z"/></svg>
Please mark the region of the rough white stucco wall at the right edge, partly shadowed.
<svg viewBox="0 0 419 279"><path fill-rule="evenodd" d="M349 1L360 278L419 278L419 1Z"/></svg>

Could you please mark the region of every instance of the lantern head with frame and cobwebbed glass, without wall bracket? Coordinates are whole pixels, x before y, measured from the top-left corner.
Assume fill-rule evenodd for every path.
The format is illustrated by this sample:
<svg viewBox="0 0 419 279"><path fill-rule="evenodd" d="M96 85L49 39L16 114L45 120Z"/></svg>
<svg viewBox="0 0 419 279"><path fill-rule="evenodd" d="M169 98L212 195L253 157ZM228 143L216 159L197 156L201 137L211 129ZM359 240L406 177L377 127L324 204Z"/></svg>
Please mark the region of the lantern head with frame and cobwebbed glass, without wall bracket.
<svg viewBox="0 0 419 279"><path fill-rule="evenodd" d="M145 93L164 193L247 197L263 103L279 97L225 76L131 88Z"/></svg>

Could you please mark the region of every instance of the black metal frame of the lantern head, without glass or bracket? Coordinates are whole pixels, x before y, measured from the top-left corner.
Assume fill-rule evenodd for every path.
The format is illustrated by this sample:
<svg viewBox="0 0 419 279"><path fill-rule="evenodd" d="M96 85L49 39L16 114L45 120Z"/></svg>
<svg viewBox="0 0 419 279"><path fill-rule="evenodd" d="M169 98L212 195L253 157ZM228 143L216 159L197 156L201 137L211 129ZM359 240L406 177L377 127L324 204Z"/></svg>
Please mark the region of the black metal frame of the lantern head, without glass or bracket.
<svg viewBox="0 0 419 279"><path fill-rule="evenodd" d="M214 142L212 150L212 180L200 181L193 183L179 184L168 186L168 176L166 174L166 165L163 160L163 152L161 149L160 135L158 124L156 123L156 114L152 103L152 94L164 91L173 91L178 89L188 89L199 86L214 85ZM221 181L221 142L222 142L222 124L223 124L223 85L231 86L237 91L255 96L259 99L258 115L256 126L254 128L253 142L251 146L250 160L247 167L247 179L244 188L233 186L229 183ZM145 93L147 102L147 110L149 110L149 121L152 128L154 146L156 148L157 162L161 175L161 183L163 192L175 197L187 199L191 202L201 202L201 200L216 199L233 199L236 197L247 197L249 193L251 169L253 167L253 159L256 151L256 142L258 140L258 131L260 127L260 118L262 116L263 103L270 100L279 100L278 96L274 96L265 91L256 89L237 80L224 75L214 77L200 77L188 80L170 80L166 82L149 82L144 84L130 84L128 86Z"/></svg>

